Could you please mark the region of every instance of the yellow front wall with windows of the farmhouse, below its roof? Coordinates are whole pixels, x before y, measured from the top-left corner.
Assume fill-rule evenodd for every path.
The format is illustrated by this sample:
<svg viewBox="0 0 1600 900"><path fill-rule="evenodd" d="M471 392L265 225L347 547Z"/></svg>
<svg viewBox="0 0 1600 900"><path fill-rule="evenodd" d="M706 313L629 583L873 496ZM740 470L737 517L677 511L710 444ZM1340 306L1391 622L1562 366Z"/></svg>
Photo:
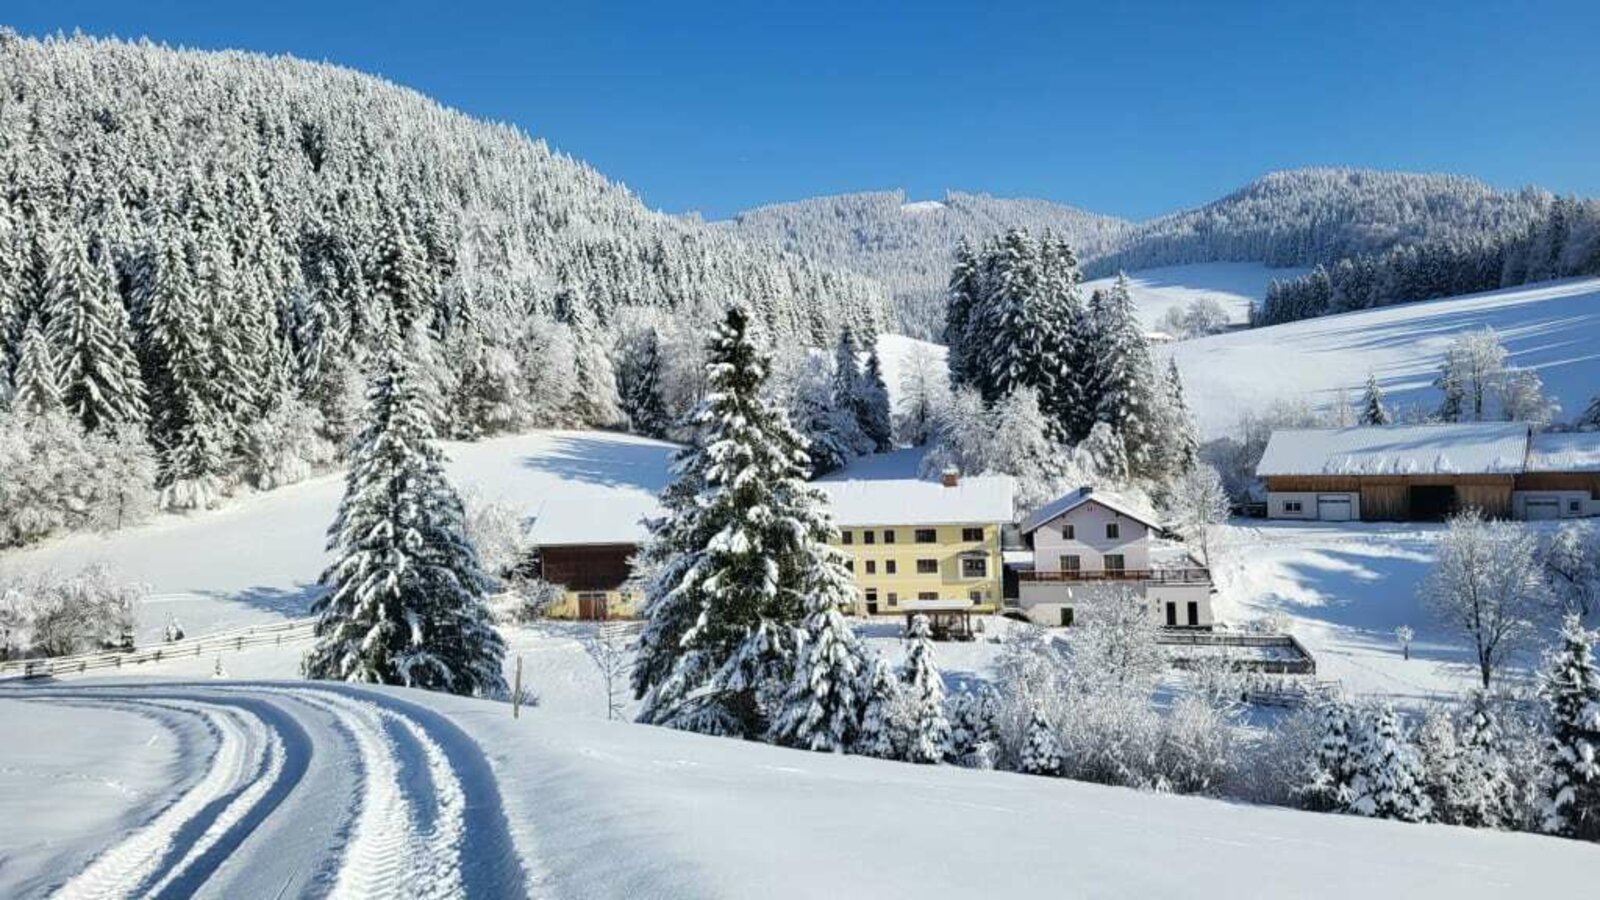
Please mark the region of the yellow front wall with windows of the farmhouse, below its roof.
<svg viewBox="0 0 1600 900"><path fill-rule="evenodd" d="M918 544L917 530L933 528L934 543ZM1002 572L1000 572L1000 527L971 524L965 528L982 528L981 541L963 541L963 525L870 525L850 527L851 543L843 543L843 536L834 546L850 554L854 564L856 591L859 612L866 612L867 589L877 588L878 615L899 615L898 604L915 601L922 593L933 593L941 601L966 599L970 591L981 591L982 601L973 605L974 612L994 612L1000 609ZM894 532L894 543L883 543L883 532ZM866 543L862 532L874 532L875 543ZM982 578L962 577L962 556L982 551L986 559L986 575ZM885 565L894 560L894 575ZM938 560L936 575L918 575L917 560ZM867 573L867 562L874 562L877 572ZM890 594L896 594L896 604L890 604Z"/></svg>

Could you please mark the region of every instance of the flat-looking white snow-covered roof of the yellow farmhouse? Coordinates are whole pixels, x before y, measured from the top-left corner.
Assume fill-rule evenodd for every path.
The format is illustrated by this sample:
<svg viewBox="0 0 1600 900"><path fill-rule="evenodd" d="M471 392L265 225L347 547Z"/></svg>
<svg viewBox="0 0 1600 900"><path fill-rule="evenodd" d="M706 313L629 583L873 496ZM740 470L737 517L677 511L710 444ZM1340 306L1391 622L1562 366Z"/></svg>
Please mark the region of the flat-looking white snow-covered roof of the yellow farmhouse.
<svg viewBox="0 0 1600 900"><path fill-rule="evenodd" d="M1011 520L1016 482L1010 476L962 477L955 487L936 480L826 480L816 487L834 508L834 522L861 525L968 525Z"/></svg>

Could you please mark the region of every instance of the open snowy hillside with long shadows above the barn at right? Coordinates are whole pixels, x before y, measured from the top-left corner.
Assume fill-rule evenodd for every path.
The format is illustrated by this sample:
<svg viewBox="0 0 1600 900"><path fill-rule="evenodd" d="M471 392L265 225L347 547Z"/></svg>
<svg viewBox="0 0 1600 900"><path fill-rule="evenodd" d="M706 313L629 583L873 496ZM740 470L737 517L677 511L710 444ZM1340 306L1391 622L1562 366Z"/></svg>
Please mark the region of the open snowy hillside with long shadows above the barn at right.
<svg viewBox="0 0 1600 900"><path fill-rule="evenodd" d="M1464 330L1499 331L1510 362L1534 368L1563 418L1600 386L1600 279L1568 279L1480 295L1325 315L1158 348L1178 360L1202 437L1232 429L1272 400L1326 408L1360 397L1368 372L1390 404L1438 405L1445 348Z"/></svg>

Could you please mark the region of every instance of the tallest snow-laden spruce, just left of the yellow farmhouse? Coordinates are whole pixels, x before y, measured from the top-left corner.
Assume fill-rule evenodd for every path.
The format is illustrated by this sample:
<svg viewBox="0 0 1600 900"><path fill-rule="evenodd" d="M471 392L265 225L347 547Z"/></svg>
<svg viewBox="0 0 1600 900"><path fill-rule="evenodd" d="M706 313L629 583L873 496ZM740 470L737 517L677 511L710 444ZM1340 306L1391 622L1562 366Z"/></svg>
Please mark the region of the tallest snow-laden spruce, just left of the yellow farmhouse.
<svg viewBox="0 0 1600 900"><path fill-rule="evenodd" d="M734 306L653 525L634 690L640 721L757 738L794 671L794 626L848 581L802 437L763 397L768 356Z"/></svg>

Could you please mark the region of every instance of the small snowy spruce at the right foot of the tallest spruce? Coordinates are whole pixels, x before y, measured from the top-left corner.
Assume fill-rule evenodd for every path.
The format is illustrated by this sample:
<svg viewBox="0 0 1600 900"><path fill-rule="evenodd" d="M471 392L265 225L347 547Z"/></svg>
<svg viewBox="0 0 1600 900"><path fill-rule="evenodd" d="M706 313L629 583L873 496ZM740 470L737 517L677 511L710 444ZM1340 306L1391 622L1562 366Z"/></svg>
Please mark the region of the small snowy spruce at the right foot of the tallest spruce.
<svg viewBox="0 0 1600 900"><path fill-rule="evenodd" d="M854 596L854 581L838 560L818 572L797 636L794 676L771 725L774 743L827 753L845 753L856 743L862 713L856 690L869 661L840 613Z"/></svg>

